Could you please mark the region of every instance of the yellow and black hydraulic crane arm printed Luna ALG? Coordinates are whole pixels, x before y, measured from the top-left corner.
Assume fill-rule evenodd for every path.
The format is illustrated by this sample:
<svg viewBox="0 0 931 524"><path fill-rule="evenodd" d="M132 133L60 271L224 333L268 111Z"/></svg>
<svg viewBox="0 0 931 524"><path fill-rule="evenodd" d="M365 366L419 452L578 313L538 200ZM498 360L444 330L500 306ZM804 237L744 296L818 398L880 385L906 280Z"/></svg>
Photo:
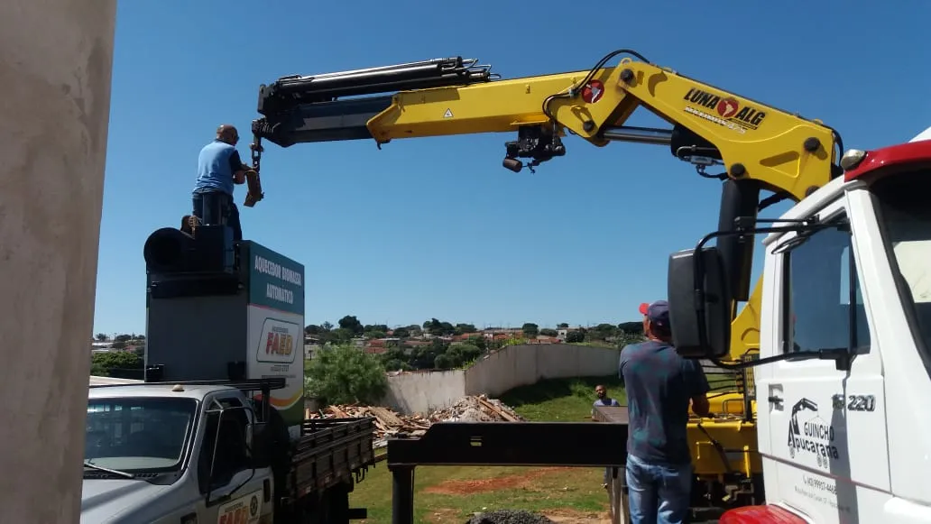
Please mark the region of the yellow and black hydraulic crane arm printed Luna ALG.
<svg viewBox="0 0 931 524"><path fill-rule="evenodd" d="M606 64L628 54L619 64ZM625 126L645 108L670 128ZM502 80L491 67L462 58L279 78L259 90L252 122L252 158L258 171L261 141L295 143L394 139L516 132L505 144L504 166L514 171L529 159L533 170L565 155L572 133L595 146L611 141L666 145L698 174L728 181L719 228L735 218L755 218L779 200L799 201L842 173L843 142L816 120L767 106L655 65L635 51L614 51L588 71ZM706 169L722 166L723 172ZM773 193L760 198L760 190ZM260 190L261 191L261 190ZM760 286L749 293L752 244L718 240L736 302L748 302L732 323L731 355L759 347Z"/></svg>

